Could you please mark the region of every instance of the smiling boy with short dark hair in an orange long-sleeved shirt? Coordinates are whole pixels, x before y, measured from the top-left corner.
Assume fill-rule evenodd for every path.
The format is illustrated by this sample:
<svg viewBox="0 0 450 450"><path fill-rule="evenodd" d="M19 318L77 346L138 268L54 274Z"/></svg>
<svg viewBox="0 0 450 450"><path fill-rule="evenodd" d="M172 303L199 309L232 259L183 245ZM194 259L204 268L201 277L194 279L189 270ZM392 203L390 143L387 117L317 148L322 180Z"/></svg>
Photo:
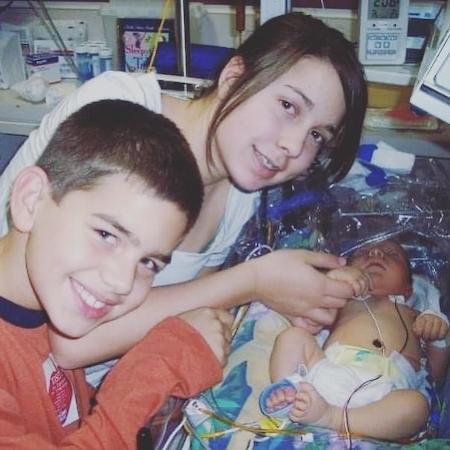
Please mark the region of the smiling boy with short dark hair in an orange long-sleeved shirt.
<svg viewBox="0 0 450 450"><path fill-rule="evenodd" d="M0 240L0 448L134 449L137 430L168 395L191 396L220 379L231 322L224 311L156 326L95 405L83 371L56 366L47 335L52 327L83 336L137 307L202 195L175 125L119 100L75 112L19 174L12 228Z"/></svg>

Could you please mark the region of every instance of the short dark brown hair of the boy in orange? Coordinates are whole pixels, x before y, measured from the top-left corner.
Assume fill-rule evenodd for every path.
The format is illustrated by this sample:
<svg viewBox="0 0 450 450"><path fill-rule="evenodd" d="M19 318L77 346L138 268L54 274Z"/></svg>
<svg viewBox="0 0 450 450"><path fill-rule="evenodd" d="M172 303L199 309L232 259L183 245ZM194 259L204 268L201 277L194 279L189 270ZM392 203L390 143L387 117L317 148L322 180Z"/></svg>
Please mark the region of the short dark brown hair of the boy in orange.
<svg viewBox="0 0 450 450"><path fill-rule="evenodd" d="M46 172L57 202L70 191L90 189L100 177L125 173L175 203L187 216L187 228L201 208L200 172L180 130L129 101L100 100L71 114L36 164Z"/></svg>

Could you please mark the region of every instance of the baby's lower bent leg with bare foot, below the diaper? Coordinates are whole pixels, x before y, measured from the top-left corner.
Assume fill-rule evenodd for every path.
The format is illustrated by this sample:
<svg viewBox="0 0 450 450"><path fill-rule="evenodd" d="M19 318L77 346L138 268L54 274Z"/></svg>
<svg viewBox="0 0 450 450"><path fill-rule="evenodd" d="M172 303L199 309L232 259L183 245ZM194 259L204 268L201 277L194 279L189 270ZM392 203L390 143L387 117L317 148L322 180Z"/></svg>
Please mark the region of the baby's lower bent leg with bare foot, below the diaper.
<svg viewBox="0 0 450 450"><path fill-rule="evenodd" d="M414 436L422 430L429 411L420 392L403 389L347 412L351 434L397 440ZM309 383L299 385L289 417L293 422L346 432L343 408L328 404Z"/></svg>

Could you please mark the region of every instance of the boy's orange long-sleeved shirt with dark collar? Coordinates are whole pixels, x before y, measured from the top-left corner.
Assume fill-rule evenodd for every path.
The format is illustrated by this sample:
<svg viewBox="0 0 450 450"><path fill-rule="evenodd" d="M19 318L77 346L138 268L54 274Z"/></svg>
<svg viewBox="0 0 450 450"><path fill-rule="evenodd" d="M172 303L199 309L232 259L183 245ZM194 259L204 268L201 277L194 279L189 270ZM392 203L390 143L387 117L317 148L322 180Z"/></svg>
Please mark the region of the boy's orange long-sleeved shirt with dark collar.
<svg viewBox="0 0 450 450"><path fill-rule="evenodd" d="M111 371L90 414L93 390L84 372L64 371L81 420L63 427L54 403L64 418L67 396L58 388L52 395L47 392L43 369L50 350L48 327L46 323L31 328L9 323L2 311L4 301L0 298L0 448L134 450L138 429L168 395L189 397L220 379L219 362L203 338L183 320L168 318ZM66 382L61 383L64 377L57 378L57 387L67 388Z"/></svg>

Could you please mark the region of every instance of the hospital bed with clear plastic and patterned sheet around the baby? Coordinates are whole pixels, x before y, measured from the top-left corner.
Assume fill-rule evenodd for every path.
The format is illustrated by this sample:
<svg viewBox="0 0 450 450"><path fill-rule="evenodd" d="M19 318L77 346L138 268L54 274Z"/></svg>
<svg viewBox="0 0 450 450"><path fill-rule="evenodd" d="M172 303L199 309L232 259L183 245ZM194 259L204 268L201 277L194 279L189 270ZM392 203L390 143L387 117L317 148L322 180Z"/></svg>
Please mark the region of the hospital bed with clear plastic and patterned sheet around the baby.
<svg viewBox="0 0 450 450"><path fill-rule="evenodd" d="M270 248L310 248L347 254L367 242L395 237L415 274L426 277L450 312L450 160L414 157L410 168L389 170L359 158L330 190L304 182L266 191L226 265ZM285 323L255 301L236 311L224 380L196 399L170 399L148 424L153 443L141 449L442 449L450 448L450 374L433 389L427 429L413 441L390 443L318 427L280 424L256 411L267 383L268 357ZM255 363L256 361L256 363ZM254 365L255 367L251 367Z"/></svg>

